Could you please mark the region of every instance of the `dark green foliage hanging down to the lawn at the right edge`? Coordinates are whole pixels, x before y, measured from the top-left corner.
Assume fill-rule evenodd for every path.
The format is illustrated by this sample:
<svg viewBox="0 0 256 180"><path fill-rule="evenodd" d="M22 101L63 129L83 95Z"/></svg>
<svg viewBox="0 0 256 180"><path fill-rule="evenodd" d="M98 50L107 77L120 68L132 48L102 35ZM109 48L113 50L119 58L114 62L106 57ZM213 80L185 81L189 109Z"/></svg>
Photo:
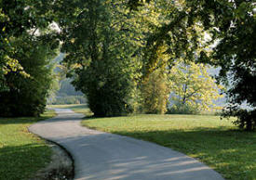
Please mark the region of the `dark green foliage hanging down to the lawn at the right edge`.
<svg viewBox="0 0 256 180"><path fill-rule="evenodd" d="M235 1L223 6L221 14L215 15L220 42L213 49L215 61L222 71L220 81L230 83L230 106L224 115L236 116L235 122L246 130L255 130L256 111L256 11L253 1ZM246 103L249 109L240 105Z"/></svg>

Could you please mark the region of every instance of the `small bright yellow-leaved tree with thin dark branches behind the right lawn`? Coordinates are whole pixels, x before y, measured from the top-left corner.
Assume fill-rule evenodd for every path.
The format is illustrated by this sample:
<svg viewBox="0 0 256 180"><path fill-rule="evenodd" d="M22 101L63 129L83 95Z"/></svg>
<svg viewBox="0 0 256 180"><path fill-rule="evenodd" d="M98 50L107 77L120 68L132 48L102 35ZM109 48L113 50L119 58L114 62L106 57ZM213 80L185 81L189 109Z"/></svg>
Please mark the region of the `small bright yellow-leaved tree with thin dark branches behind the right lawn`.
<svg viewBox="0 0 256 180"><path fill-rule="evenodd" d="M214 100L222 97L222 86L216 84L207 69L206 65L191 61L176 62L168 75L170 102L174 109L179 111L180 108L187 107L194 111L202 111L218 108L214 105Z"/></svg>

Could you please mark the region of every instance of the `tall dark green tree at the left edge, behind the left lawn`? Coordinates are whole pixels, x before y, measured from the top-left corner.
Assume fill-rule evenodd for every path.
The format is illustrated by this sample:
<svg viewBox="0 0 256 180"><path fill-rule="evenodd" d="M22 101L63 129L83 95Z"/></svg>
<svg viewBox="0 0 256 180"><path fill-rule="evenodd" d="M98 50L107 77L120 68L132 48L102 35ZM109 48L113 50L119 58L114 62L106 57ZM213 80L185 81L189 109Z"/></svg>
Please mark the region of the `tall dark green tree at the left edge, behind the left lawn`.
<svg viewBox="0 0 256 180"><path fill-rule="evenodd" d="M0 115L38 116L46 106L50 62L59 46L51 1L0 1Z"/></svg>

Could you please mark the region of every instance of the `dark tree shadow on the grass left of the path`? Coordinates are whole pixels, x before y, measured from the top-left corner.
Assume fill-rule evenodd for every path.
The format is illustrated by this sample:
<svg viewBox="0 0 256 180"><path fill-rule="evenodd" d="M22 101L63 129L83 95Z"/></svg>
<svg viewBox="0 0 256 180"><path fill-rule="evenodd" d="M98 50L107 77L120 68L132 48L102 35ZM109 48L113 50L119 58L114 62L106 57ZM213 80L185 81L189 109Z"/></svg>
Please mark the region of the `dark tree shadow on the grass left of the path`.
<svg viewBox="0 0 256 180"><path fill-rule="evenodd" d="M27 144L0 148L0 179L28 179L50 161L47 146Z"/></svg>

